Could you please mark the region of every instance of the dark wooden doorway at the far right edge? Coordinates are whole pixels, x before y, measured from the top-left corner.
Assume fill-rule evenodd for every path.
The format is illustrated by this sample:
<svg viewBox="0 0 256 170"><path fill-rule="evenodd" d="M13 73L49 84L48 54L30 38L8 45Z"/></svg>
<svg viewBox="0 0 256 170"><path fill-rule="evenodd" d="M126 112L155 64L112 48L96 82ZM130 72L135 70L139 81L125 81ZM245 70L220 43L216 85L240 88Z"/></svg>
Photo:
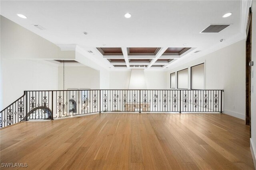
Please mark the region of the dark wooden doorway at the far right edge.
<svg viewBox="0 0 256 170"><path fill-rule="evenodd" d="M246 27L246 125L251 125L251 61L252 51L252 12L250 8ZM250 126L251 135L251 126Z"/></svg>

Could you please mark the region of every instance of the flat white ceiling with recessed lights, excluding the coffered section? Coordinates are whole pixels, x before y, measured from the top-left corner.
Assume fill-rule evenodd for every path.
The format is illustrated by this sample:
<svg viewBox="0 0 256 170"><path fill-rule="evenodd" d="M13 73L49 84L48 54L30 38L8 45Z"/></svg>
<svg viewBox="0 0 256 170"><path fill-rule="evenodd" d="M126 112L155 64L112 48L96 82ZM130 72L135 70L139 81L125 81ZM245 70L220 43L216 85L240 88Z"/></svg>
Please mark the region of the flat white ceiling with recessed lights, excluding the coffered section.
<svg viewBox="0 0 256 170"><path fill-rule="evenodd" d="M234 41L242 36L240 0L1 1L0 12L56 45L77 44L85 49L193 47L204 51L220 44L220 39ZM126 12L132 17L124 18ZM232 16L222 18L228 12ZM210 24L230 23L219 33L200 33Z"/></svg>

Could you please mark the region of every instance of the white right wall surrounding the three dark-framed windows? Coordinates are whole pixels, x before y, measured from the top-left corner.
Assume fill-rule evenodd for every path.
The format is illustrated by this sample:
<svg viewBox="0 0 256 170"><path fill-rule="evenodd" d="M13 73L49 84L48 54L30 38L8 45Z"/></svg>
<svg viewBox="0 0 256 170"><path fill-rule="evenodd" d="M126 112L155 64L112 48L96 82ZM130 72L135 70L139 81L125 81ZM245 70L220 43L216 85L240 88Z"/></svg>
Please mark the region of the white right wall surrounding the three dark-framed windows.
<svg viewBox="0 0 256 170"><path fill-rule="evenodd" d="M189 68L190 75L190 67L200 63L205 63L205 89L224 90L224 113L245 119L245 40L172 68L166 75L167 84L170 84L170 73Z"/></svg>

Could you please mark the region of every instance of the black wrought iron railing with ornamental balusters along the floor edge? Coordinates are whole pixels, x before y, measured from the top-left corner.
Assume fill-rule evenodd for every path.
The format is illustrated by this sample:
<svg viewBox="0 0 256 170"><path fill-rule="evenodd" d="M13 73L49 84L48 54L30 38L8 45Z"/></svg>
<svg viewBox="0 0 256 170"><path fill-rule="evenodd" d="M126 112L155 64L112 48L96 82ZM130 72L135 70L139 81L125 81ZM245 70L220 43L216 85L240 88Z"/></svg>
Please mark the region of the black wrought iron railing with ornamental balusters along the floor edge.
<svg viewBox="0 0 256 170"><path fill-rule="evenodd" d="M223 90L44 90L0 111L0 128L30 119L56 119L105 111L220 112Z"/></svg>

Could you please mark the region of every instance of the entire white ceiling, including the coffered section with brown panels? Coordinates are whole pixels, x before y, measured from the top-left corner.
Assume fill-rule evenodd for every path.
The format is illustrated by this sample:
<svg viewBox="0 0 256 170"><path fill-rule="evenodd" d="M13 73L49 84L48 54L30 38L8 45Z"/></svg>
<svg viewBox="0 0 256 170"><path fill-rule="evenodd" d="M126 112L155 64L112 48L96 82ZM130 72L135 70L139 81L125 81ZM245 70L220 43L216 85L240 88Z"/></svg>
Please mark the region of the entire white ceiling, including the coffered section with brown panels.
<svg viewBox="0 0 256 170"><path fill-rule="evenodd" d="M86 59L107 69L166 70L184 64L243 39L247 16L246 1L241 0L0 3L2 16L62 50L79 46ZM232 15L222 18L228 12Z"/></svg>

